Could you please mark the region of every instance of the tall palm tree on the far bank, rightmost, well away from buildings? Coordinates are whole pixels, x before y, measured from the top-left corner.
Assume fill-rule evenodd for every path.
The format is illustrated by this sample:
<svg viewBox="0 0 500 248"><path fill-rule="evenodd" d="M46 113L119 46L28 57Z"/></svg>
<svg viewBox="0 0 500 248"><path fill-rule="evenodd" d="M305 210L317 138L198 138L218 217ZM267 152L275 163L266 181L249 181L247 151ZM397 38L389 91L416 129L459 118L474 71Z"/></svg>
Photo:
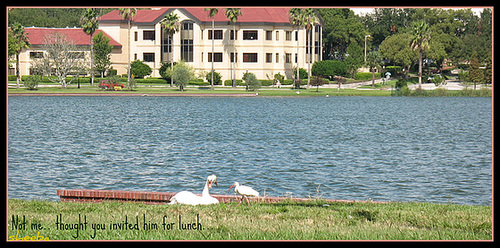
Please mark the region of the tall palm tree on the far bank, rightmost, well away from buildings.
<svg viewBox="0 0 500 248"><path fill-rule="evenodd" d="M431 31L429 24L424 21L416 21L411 28L411 48L418 51L418 87L422 88L422 56L425 50L430 48Z"/></svg>

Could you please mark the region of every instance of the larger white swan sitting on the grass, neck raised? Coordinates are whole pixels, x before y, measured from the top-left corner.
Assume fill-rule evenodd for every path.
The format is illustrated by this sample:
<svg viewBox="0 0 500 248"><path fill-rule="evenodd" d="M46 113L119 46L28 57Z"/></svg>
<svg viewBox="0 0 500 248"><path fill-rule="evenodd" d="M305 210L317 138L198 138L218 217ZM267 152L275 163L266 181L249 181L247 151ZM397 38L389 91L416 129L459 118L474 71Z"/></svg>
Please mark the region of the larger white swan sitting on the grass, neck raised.
<svg viewBox="0 0 500 248"><path fill-rule="evenodd" d="M212 188L212 184L214 183L215 185L217 185L217 177L215 175L208 176L201 196L195 195L189 191L181 191L170 198L169 204L179 203L193 206L217 204L219 203L219 200L211 196L208 192Z"/></svg>

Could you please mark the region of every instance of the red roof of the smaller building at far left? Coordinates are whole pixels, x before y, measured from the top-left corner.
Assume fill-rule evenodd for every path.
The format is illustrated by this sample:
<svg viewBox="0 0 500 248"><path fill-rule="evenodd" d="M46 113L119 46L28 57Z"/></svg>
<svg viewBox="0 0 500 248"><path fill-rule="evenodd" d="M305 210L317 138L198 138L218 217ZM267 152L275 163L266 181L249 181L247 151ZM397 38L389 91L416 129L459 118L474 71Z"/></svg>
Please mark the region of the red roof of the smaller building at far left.
<svg viewBox="0 0 500 248"><path fill-rule="evenodd" d="M81 28L24 28L24 30L26 31L32 45L42 45L45 36L51 33L65 34L69 39L73 40L76 45L90 45L89 35L83 32ZM113 46L121 46L120 43L100 29L96 30L94 35L99 32L103 32L104 36L110 39L109 44Z"/></svg>

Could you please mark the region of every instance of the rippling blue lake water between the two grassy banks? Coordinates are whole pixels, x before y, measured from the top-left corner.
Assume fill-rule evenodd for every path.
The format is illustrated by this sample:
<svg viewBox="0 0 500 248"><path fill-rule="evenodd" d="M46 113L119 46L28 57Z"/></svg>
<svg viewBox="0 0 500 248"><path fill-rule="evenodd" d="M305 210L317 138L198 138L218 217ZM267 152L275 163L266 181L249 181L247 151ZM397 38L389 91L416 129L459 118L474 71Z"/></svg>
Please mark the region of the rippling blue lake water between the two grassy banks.
<svg viewBox="0 0 500 248"><path fill-rule="evenodd" d="M201 193L492 203L491 98L9 97L8 194Z"/></svg>

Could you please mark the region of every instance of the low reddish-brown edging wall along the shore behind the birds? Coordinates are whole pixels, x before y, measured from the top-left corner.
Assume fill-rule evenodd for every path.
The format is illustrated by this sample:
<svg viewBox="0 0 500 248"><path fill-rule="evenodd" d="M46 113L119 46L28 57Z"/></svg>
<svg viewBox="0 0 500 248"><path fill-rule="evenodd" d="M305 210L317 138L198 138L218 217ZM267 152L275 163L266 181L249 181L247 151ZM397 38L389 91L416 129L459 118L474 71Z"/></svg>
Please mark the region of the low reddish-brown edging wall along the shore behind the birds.
<svg viewBox="0 0 500 248"><path fill-rule="evenodd" d="M100 190L100 189L63 189L57 190L57 195L62 202L103 202L103 201L122 201L122 202L140 202L147 204L167 204L175 194L172 192L146 192L146 191L124 191L124 190ZM201 195L201 194L197 194ZM219 202L239 202L240 195L217 195L211 196L219 200ZM315 198L296 198L296 197L249 197L251 202L274 203L281 201L310 201ZM334 200L322 199L326 202L373 202L375 201L353 201L353 200Z"/></svg>

